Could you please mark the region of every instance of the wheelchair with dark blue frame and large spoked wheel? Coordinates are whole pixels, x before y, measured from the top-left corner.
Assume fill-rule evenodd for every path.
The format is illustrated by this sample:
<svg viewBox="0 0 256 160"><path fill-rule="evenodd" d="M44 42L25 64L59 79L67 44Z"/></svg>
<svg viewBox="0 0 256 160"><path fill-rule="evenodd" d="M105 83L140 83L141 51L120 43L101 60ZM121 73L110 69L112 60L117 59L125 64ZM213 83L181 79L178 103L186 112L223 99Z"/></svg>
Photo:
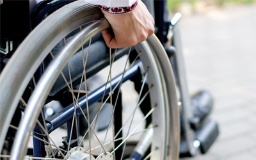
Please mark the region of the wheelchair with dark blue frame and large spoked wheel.
<svg viewBox="0 0 256 160"><path fill-rule="evenodd" d="M151 8L163 9L164 1ZM109 49L100 32L111 26L97 6L39 3L33 31L17 49L10 40L4 40L10 49L1 49L1 159L179 159L199 148L207 152L218 126L210 120L198 127L191 114L176 27L180 14L166 23L162 12L155 12L157 36ZM172 45L163 47L168 40ZM122 72L112 77L121 59ZM131 82L136 103L125 106L122 86Z"/></svg>

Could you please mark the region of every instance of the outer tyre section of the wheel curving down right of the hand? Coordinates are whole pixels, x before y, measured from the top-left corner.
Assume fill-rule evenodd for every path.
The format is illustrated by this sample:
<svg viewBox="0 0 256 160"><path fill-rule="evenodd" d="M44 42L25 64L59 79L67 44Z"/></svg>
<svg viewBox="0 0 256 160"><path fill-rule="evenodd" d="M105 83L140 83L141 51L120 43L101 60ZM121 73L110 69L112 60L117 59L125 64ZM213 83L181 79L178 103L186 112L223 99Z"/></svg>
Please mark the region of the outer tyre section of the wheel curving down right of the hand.
<svg viewBox="0 0 256 160"><path fill-rule="evenodd" d="M172 66L170 64L169 58L163 46L157 39L156 35L152 35L148 37L147 42L152 48L157 60L161 61L159 65L161 65L161 68L163 70L163 75L164 75L163 77L165 81L164 84L166 84L164 88L166 88L169 95L168 103L170 107L167 108L168 110L166 110L166 113L170 115L170 119L168 119L168 121L170 122L170 125L166 126L166 128L169 131L168 136L170 136L169 141L167 137L168 144L166 144L167 145L166 147L169 148L169 159L179 159L180 116L179 116L179 108L177 106L177 95L176 95L175 79L173 76Z"/></svg>

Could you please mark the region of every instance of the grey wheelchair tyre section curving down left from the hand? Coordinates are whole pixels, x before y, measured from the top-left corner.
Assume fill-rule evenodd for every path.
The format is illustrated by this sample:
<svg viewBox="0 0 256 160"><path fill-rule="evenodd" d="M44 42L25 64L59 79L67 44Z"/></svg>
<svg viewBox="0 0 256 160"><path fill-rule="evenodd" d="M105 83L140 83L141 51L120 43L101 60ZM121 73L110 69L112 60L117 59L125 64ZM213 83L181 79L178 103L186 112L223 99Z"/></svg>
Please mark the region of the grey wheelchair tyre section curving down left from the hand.
<svg viewBox="0 0 256 160"><path fill-rule="evenodd" d="M49 15L15 51L19 54L12 56L10 64L4 67L0 76L0 92L10 91L1 95L0 99L0 150L2 150L4 138L19 99L42 60L70 31L86 22L99 20L102 17L101 10L95 5L87 4L84 1L70 3L64 6L62 10Z"/></svg>

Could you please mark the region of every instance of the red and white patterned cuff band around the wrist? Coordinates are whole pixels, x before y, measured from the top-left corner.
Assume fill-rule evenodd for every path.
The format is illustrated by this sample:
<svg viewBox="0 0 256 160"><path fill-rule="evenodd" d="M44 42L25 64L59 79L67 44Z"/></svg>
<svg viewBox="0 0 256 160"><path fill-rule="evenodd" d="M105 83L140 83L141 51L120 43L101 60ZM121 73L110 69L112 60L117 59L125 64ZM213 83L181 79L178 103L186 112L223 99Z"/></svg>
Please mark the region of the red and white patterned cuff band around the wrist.
<svg viewBox="0 0 256 160"><path fill-rule="evenodd" d="M138 1L136 1L134 4L132 4L132 6L126 6L126 7L107 7L107 6L100 6L99 8L111 13L111 14L115 14L115 15L122 15L125 13L130 13L132 12L132 10L134 10L134 8L136 8L138 4Z"/></svg>

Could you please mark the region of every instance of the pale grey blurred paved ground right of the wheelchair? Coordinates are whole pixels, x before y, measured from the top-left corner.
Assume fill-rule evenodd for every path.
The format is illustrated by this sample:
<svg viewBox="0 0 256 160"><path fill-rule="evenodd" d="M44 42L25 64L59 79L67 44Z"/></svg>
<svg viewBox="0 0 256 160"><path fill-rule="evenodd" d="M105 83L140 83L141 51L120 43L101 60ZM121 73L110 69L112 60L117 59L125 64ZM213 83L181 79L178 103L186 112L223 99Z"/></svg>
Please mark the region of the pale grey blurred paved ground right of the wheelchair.
<svg viewBox="0 0 256 160"><path fill-rule="evenodd" d="M180 22L189 90L215 99L220 136L186 159L256 159L256 4L227 6Z"/></svg>

